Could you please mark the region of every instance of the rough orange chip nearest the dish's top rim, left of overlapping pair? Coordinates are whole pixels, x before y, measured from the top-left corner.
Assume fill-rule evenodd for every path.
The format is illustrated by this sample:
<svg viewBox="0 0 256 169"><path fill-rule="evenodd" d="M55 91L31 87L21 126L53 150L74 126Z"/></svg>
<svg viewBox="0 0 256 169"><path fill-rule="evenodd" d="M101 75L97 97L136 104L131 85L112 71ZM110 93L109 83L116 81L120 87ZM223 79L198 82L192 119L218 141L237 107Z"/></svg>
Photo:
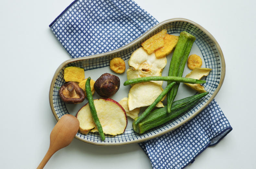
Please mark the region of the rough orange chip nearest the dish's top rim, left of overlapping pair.
<svg viewBox="0 0 256 169"><path fill-rule="evenodd" d="M161 32L158 32L156 35L153 35L149 39L145 40L141 46L147 51L148 54L153 53L158 48L164 46L164 37L166 36L167 30L163 29Z"/></svg>

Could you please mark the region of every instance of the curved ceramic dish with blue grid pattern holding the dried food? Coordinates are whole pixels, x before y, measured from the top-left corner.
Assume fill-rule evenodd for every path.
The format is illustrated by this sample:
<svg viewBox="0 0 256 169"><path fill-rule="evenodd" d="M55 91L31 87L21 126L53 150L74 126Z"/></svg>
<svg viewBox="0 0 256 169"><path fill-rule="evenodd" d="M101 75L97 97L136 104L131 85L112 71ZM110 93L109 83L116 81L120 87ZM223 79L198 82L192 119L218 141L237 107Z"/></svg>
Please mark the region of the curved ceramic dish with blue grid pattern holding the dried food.
<svg viewBox="0 0 256 169"><path fill-rule="evenodd" d="M196 114L202 111L215 97L217 92L219 91L224 77L225 77L225 60L223 57L223 53L221 51L220 46L218 45L215 38L202 26L183 18L174 18L163 21L156 26L152 27L146 33L144 33L141 37L132 41L131 43L123 46L122 48L88 57L83 58L75 58L70 59L62 63L59 68L56 70L51 87L49 92L50 105L52 109L52 113L58 121L64 114L72 114L76 115L77 111L87 103L87 99L83 103L76 105L68 105L65 104L59 97L58 90L65 83L64 81L64 68L67 66L77 66L80 68L84 68L85 77L91 77L96 80L103 73L112 73L119 76L121 80L120 89L118 92L112 96L111 98L120 101L123 97L128 97L130 86L123 86L123 82L127 80L126 73L116 74L109 68L109 62L114 57L120 57L126 61L126 69L128 69L128 60L131 54L137 49L141 47L141 43L144 42L149 37L153 36L157 32L162 29L167 29L168 34L179 35L181 31L187 31L196 37L196 40L193 44L192 50L190 54L197 54L203 59L202 68L211 68L212 71L205 78L206 83L203 84L206 91L209 92L207 96L201 99L198 104L196 104L190 111L187 111L180 115L179 117L159 126L154 129L151 129L143 134L137 134L132 129L132 120L129 119L128 125L124 133L116 136L105 135L105 141L101 141L99 133L89 132L84 135L80 132L77 132L76 138L90 144L95 145L124 145L131 143L139 143L144 142L149 139L153 139L157 136L170 132L180 125L184 124L186 121L192 119ZM167 56L167 65L162 73L162 76L167 76L169 63L171 59L172 53ZM188 74L191 70L185 66L183 77ZM166 87L166 83L164 82L163 88ZM178 94L175 100L179 100L191 95L196 94L196 92L186 85L181 84ZM100 98L97 93L93 95L94 99ZM143 111L143 110L142 110Z"/></svg>

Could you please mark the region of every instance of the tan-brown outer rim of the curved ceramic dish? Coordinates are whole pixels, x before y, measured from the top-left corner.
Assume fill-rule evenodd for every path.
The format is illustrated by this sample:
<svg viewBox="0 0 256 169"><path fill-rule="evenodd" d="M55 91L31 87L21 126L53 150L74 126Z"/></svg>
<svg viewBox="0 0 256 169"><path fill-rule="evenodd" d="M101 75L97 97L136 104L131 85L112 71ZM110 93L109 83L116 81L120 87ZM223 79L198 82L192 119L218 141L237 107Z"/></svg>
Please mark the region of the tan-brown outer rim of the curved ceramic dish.
<svg viewBox="0 0 256 169"><path fill-rule="evenodd" d="M214 42L218 52L219 52L219 55L220 55L220 59L221 59L221 77L220 77L220 81L219 81L219 84L216 88L216 90L214 91L214 93L212 94L212 96L209 98L209 100L202 106L200 107L196 112L194 112L191 116L189 116L187 119L185 119L184 121L180 122L179 124L177 125L174 125L173 127L169 128L168 130L165 130L165 131L162 131L162 132L159 132L155 135L152 135L152 136L148 136L148 137L145 137L145 138L142 138L142 139L139 139L139 140L132 140L132 141L127 141L127 142L120 142L120 143L104 143L104 142L101 142L101 143L97 143L97 142L92 142L92 141L88 141L88 140L83 140L81 139L80 137L78 137L77 135L75 136L75 138L77 138L78 140L82 141L82 142L85 142L85 143L89 143L89 144L93 144L93 145L99 145L99 146L118 146L118 145L127 145L127 144L134 144L134 143L141 143L141 142L145 142L147 140L151 140L153 138L156 138L156 137L159 137L167 132L170 132L172 130L175 130L176 128L180 127L181 125L183 125L184 123L186 123L187 121L191 120L192 118L194 118L199 112L201 112L216 96L216 94L219 92L222 84L223 84L223 81L224 81L224 78L225 78L225 74L226 74L226 63L225 63L225 59L224 59L224 55L223 55L223 52L218 44L218 42L216 41L216 39L213 37L212 34L210 34L204 27L202 27L201 25L189 20L189 19L186 19L186 18L171 18L171 19L167 19L167 20L164 20L160 23L158 23L157 25L153 26L152 28L150 28L148 31L146 31L143 35L141 35L140 37L136 38L135 40L133 40L132 42L122 46L121 48L118 48L118 49L115 49L115 50L112 50L112 51L109 51L109 52L105 52L105 53L101 53L101 54L96 54L96 55L91 55L91 56L85 56L85 57L82 57L82 58L72 58L72 59L68 59L66 61L64 61L55 71L54 75L53 75L53 78L52 78L52 81L51 81L51 85L50 85L50 90L49 90L49 102L50 102L50 107L51 107L51 110L52 110L52 114L54 115L55 119L57 121L59 121L60 119L58 118L57 116L57 113L55 112L54 110L54 106L53 106L53 100L52 100L52 94L53 94L53 87L54 87L54 83L55 83L55 79L57 78L58 76L58 73L60 72L60 70L67 64L69 63L72 63L72 62L75 62L75 61L78 61L78 60L87 60L87 59L91 59L91 58L99 58L99 57L104 57L104 56L108 56L108 55L112 55L114 53L118 53L118 52L121 52L122 50L125 50L126 48L130 48L132 47L133 45L137 44L139 41L141 41L144 37L150 35L152 32L154 32L156 29L160 28L161 26L164 26L168 23L171 23L171 22L188 22L196 27L198 27L199 29L201 29L208 37L211 38L211 40Z"/></svg>

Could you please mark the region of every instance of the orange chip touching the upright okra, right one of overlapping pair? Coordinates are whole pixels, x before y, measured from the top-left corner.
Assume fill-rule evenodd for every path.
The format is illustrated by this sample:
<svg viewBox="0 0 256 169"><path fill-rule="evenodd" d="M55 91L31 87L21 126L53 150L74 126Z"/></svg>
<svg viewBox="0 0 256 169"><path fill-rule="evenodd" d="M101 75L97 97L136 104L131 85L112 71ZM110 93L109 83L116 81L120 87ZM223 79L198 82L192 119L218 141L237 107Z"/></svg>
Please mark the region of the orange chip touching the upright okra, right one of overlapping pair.
<svg viewBox="0 0 256 169"><path fill-rule="evenodd" d="M162 58L171 53L171 51L176 47L179 40L179 36L166 34L164 37L164 46L156 50L156 57Z"/></svg>

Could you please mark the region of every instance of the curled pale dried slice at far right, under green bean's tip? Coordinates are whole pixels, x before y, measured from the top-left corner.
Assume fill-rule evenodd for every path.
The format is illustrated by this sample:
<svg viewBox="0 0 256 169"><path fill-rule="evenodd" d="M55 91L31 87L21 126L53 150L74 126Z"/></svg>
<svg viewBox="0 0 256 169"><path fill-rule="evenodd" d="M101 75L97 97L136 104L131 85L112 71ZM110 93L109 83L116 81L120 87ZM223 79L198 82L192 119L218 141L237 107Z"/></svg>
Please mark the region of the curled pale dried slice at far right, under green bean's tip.
<svg viewBox="0 0 256 169"><path fill-rule="evenodd" d="M200 80L202 77L207 76L212 69L209 68L195 68L192 70L189 74L186 75L186 78L192 78L192 79L198 79ZM193 90L198 91L199 93L204 93L206 90L204 90L204 86L201 86L200 84L189 84L184 83Z"/></svg>

